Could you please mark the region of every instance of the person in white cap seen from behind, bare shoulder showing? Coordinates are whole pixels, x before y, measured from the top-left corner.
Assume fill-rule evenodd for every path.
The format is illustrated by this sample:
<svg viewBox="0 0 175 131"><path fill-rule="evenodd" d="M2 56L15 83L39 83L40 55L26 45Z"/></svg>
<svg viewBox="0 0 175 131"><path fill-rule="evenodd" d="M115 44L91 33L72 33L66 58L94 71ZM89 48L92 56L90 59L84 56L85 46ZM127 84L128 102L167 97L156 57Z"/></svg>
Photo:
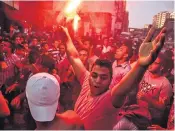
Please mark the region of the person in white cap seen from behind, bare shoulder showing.
<svg viewBox="0 0 175 131"><path fill-rule="evenodd" d="M29 109L36 123L36 130L83 129L74 111L57 114L60 86L48 73L37 73L29 78L26 86Z"/></svg>

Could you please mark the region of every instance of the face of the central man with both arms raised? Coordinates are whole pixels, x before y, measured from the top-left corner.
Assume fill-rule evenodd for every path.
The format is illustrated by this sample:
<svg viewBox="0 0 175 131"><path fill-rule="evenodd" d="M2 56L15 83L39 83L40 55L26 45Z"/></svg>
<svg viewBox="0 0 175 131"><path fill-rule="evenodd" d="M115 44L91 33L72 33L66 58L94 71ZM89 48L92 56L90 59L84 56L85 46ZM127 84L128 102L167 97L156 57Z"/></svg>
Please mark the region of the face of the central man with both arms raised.
<svg viewBox="0 0 175 131"><path fill-rule="evenodd" d="M90 78L90 90L93 96L97 96L109 89L111 83L110 72L106 67L94 65Z"/></svg>

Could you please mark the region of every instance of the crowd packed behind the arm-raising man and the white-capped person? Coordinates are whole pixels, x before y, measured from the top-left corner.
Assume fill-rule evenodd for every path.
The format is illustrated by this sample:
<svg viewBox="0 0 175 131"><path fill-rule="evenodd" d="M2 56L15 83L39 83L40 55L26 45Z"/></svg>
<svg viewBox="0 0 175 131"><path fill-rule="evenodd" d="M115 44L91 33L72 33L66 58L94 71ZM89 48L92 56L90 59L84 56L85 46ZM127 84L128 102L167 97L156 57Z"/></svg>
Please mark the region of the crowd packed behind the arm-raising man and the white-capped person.
<svg viewBox="0 0 175 131"><path fill-rule="evenodd" d="M116 40L109 36L101 39L95 36L76 36L72 40L79 53L80 60L88 71L92 70L94 62L98 59L107 59L112 63L113 73L109 90L112 90L134 67L139 57L139 46L142 43L142 41L137 41L138 47L133 48L136 41L132 39ZM8 111L0 111L2 114L0 114L0 129L33 130L36 128L26 100L25 88L28 79L39 72L52 74L60 83L58 113L78 110L75 103L82 85L68 59L65 41L65 37L60 33L59 28L43 33L32 32L31 30L25 34L15 30L14 26L11 25L8 33L1 34L0 97L5 99L10 114ZM132 121L137 127L133 127L133 129L145 129L143 126L149 127L152 124L159 125L162 129L172 129L172 123L174 123L174 111L172 111L174 110L174 48L162 52L159 58L153 66L148 68L137 90L128 93L124 105L120 108L119 115L115 115L119 122L117 124L114 122L116 125L113 129L123 129L122 123L127 120ZM143 95L143 92L146 95ZM151 100L145 100L148 97L158 101L166 101L166 103L155 106L154 103L150 102ZM143 107L149 105L149 113L144 109L141 112L138 110L137 114L141 118L133 117L132 113L129 114L128 112L135 107L128 107L135 103L139 103ZM0 110L3 108L2 106L1 104ZM120 115L122 112L127 112L129 115L120 119L123 116ZM112 116L109 117L112 119ZM151 119L151 124L147 122L148 119ZM144 122L149 124L143 125ZM171 126L167 126L169 122ZM98 128L88 125L87 129Z"/></svg>

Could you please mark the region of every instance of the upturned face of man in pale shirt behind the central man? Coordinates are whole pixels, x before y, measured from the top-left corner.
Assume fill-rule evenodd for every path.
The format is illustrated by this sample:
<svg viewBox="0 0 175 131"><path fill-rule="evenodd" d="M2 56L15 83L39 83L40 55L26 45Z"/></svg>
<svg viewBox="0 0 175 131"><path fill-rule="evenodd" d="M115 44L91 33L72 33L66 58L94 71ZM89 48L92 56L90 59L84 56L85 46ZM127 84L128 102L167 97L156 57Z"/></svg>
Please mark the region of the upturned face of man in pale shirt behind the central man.
<svg viewBox="0 0 175 131"><path fill-rule="evenodd" d="M116 49L115 59L116 60L125 59L125 57L127 57L126 55L128 55L128 47L122 45L120 48Z"/></svg>

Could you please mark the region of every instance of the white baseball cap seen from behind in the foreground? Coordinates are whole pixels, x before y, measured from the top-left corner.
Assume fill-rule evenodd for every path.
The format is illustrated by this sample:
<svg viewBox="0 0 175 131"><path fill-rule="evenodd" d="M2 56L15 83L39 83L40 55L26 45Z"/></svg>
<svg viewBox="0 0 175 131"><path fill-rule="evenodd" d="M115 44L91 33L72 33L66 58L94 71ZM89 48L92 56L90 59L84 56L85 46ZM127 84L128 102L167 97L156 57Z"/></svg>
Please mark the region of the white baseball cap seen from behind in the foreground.
<svg viewBox="0 0 175 131"><path fill-rule="evenodd" d="M60 97L57 79L48 73L37 73L29 78L26 96L32 117L36 121L52 121L55 117Z"/></svg>

